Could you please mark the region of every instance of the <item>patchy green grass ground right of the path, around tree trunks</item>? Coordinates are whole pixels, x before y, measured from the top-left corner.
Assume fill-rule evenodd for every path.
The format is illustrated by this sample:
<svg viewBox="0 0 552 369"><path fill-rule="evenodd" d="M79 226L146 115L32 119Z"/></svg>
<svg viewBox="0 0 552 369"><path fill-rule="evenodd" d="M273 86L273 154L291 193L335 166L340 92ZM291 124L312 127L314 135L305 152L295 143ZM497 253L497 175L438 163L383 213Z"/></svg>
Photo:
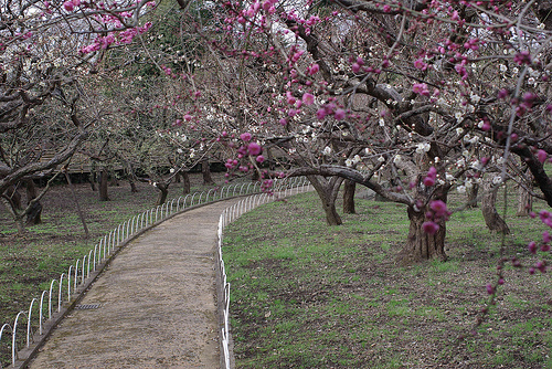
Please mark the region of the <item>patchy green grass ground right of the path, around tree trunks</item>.
<svg viewBox="0 0 552 369"><path fill-rule="evenodd" d="M358 200L357 210L327 226L308 193L229 226L237 368L552 368L550 274L508 266L490 317L470 335L501 244L480 209L448 223L447 262L410 267L394 263L405 208ZM544 229L513 211L506 252L530 264L527 242Z"/></svg>

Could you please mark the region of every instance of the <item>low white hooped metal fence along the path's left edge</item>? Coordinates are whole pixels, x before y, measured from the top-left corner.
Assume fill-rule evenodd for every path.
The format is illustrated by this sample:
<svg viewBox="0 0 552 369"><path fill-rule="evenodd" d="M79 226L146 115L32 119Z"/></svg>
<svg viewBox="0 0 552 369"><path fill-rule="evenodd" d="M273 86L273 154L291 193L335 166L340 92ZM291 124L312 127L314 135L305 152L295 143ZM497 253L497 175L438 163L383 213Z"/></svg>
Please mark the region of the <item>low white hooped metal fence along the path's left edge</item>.
<svg viewBox="0 0 552 369"><path fill-rule="evenodd" d="M297 187L304 179L283 179L275 180L275 191L289 191L288 188ZM235 196L244 196L247 193L255 193L261 191L259 182L246 182L224 186L219 190L209 190L206 192L195 192L185 197L179 197L170 200L162 205L145 211L141 214L135 215L128 221L119 224L109 233L107 233L87 254L71 265L66 273L62 273L59 278L52 280L50 288L43 291L40 297L33 298L29 305L28 310L20 312L12 324L4 324L0 328L0 345L2 345L2 337L11 336L8 338L7 345L11 347L11 362L15 366L18 358L18 335L20 335L20 326L24 326L26 335L25 347L29 348L33 342L33 336L38 330L39 335L43 335L44 324L52 319L55 314L55 305L57 305L57 313L61 312L64 303L71 303L76 297L77 288L82 287L91 273L97 271L98 266L109 259L120 244L130 239L132 235L142 229L152 225L153 223L164 220L176 212L182 211L187 208L206 203L209 201L221 200ZM259 198L268 199L267 194L258 194ZM245 212L244 209L252 209L250 198L244 199L246 203L242 204L238 209L232 211L231 220L234 220L238 214ZM258 204L258 203L257 203ZM247 208L250 207L250 208ZM225 221L227 223L227 221ZM229 285L230 287L230 285ZM47 303L47 305L46 305ZM24 321L24 323L22 323ZM227 328L224 330L224 334ZM7 339L3 339L4 341ZM21 338L22 340L22 338ZM21 346L23 344L20 344ZM0 369L1 369L0 362Z"/></svg>

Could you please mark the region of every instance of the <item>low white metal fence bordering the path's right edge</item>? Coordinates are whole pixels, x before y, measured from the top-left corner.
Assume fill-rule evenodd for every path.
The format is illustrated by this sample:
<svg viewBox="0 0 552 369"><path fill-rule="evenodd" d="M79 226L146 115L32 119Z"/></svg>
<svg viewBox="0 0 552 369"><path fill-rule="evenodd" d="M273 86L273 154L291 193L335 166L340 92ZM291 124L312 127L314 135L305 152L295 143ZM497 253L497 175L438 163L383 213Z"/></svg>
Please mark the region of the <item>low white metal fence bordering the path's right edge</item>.
<svg viewBox="0 0 552 369"><path fill-rule="evenodd" d="M308 180L304 177L291 178L285 183L278 183L275 191L279 192L278 198L288 197L291 194L297 194L310 190L312 187L308 184ZM224 209L219 219L219 230L217 230L217 254L219 254L219 265L221 282L222 282L222 294L223 298L221 305L223 306L223 325L221 327L221 345L223 352L224 369L231 369L231 356L230 356L230 283L226 281L226 270L224 267L224 261L222 260L222 245L223 245L223 230L224 228L240 218L243 213L255 209L259 204L264 204L274 201L276 197L267 193L257 193L254 196L246 197L240 202Z"/></svg>

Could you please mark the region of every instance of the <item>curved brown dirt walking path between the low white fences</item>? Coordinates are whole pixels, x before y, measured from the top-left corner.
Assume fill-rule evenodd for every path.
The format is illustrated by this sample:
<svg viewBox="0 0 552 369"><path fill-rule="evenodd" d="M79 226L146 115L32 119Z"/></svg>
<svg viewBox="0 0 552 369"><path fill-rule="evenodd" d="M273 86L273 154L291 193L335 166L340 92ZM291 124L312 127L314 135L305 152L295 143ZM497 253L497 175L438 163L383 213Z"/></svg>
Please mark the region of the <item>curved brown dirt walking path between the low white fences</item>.
<svg viewBox="0 0 552 369"><path fill-rule="evenodd" d="M189 210L131 241L81 301L92 308L71 312L29 368L220 368L216 228L237 201Z"/></svg>

